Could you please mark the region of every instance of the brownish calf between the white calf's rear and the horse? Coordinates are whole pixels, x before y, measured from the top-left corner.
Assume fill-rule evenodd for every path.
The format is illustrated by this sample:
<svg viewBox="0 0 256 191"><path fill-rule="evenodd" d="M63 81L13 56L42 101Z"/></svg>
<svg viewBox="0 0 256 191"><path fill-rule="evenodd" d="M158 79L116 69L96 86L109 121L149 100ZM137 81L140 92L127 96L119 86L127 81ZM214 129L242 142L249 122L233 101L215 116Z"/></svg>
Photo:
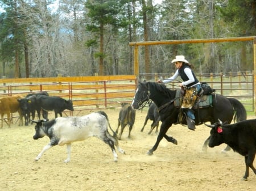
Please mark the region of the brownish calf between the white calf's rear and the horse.
<svg viewBox="0 0 256 191"><path fill-rule="evenodd" d="M129 135L128 138L131 136L131 129L133 129L134 121L135 121L135 110L131 108L131 104L128 103L121 103L122 108L119 111L119 117L118 117L118 125L117 130L115 130L115 133L118 133L119 126L121 125L121 131L118 135L118 139L121 140L121 136L123 133L123 129L125 129L126 125L129 125Z"/></svg>

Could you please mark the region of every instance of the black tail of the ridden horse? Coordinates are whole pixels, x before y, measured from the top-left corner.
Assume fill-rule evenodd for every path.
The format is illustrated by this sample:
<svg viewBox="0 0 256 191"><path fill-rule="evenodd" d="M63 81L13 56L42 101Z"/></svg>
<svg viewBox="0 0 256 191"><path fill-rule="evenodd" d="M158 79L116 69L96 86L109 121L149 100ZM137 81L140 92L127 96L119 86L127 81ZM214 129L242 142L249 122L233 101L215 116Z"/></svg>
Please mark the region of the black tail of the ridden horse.
<svg viewBox="0 0 256 191"><path fill-rule="evenodd" d="M246 120L247 118L247 114L246 114L246 110L245 107L243 106L243 104L238 101L237 99L234 99L232 97L228 97L230 103L233 105L235 114L234 114L234 122L239 122L239 121L243 121Z"/></svg>

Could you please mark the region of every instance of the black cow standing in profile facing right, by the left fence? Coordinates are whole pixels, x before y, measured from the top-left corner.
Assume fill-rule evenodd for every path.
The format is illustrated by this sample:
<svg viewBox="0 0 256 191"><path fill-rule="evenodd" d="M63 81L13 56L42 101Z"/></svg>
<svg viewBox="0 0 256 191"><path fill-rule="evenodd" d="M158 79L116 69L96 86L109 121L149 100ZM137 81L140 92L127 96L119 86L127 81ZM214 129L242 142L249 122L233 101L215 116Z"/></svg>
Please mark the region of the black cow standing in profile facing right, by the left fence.
<svg viewBox="0 0 256 191"><path fill-rule="evenodd" d="M65 100L62 97L57 96L38 95L36 96L36 105L37 108L42 108L44 111L54 110L55 118L57 118L58 113L60 114L60 117L62 117L62 112L65 109L74 111L72 100Z"/></svg>

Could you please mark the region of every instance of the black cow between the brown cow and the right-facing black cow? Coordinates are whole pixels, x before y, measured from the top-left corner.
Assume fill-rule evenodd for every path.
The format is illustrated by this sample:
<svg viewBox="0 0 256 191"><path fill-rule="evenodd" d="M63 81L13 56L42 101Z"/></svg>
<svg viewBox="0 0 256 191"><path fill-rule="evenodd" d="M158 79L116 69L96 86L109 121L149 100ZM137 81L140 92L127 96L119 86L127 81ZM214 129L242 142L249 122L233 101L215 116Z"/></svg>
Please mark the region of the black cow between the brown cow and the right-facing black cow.
<svg viewBox="0 0 256 191"><path fill-rule="evenodd" d="M40 120L40 108L36 108L36 96L38 95L46 95L49 94L46 91L38 92L38 93L31 93L28 94L25 98L19 99L19 105L22 110L22 114L25 118L25 125L28 125L28 120L30 119L30 114L32 116L32 120L35 119L35 112L37 111L38 117ZM47 117L47 112L43 111L43 117Z"/></svg>

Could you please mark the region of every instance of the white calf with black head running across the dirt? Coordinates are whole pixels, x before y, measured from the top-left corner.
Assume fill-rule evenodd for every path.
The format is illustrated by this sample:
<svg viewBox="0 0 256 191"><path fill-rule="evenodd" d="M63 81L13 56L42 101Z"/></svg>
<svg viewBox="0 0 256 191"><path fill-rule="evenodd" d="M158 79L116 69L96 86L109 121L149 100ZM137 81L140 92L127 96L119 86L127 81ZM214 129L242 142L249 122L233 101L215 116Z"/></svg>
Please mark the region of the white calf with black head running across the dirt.
<svg viewBox="0 0 256 191"><path fill-rule="evenodd" d="M114 161L117 162L117 153L115 147L122 154L125 154L118 146L115 132L109 124L108 116L105 112L94 112L81 117L58 117L55 120L33 121L36 123L34 139L39 139L47 135L50 142L36 156L35 160L39 160L43 153L55 145L67 145L68 158L64 160L68 163L71 159L71 143L74 141L84 141L88 137L97 137L108 144L113 152ZM113 131L114 136L108 132L108 125Z"/></svg>

